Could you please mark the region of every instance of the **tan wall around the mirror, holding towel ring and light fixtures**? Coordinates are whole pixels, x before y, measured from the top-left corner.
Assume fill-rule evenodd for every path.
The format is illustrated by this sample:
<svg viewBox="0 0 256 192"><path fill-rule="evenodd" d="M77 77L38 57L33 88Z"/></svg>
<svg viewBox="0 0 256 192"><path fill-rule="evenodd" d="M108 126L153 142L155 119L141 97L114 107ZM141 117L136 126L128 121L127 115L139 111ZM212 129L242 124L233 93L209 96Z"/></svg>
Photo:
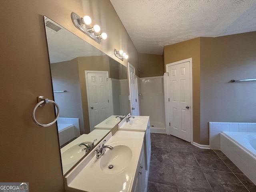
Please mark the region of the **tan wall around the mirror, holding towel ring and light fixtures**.
<svg viewBox="0 0 256 192"><path fill-rule="evenodd" d="M108 34L97 44L80 32L71 12L90 14ZM53 99L44 18L54 20L115 60L114 48L124 50L138 68L138 52L109 0L15 0L0 2L0 166L1 182L30 183L30 191L64 192L56 124L43 128L34 124L32 109L37 96ZM8 16L8 20L6 20ZM49 104L38 109L38 121L54 118Z"/></svg>

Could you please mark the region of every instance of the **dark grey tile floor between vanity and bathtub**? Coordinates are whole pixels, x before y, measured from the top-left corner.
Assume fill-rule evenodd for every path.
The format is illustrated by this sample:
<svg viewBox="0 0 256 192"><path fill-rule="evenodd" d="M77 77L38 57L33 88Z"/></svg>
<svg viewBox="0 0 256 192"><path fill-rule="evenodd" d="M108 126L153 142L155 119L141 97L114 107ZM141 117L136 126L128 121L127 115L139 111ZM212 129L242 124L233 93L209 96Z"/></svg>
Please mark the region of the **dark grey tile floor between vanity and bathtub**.
<svg viewBox="0 0 256 192"><path fill-rule="evenodd" d="M148 192L256 192L220 150L200 149L167 134L151 134Z"/></svg>

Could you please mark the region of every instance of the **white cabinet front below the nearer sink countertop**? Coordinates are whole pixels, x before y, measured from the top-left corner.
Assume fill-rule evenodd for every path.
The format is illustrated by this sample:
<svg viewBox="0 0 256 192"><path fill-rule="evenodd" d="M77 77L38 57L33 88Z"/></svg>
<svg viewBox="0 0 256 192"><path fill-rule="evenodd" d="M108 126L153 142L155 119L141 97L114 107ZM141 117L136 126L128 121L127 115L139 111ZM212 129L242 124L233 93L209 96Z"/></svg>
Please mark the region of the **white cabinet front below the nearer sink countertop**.
<svg viewBox="0 0 256 192"><path fill-rule="evenodd" d="M138 162L134 183L132 186L132 192L146 192L147 191L146 181L146 166L145 166L145 153L144 153L144 144L140 152L140 159Z"/></svg>

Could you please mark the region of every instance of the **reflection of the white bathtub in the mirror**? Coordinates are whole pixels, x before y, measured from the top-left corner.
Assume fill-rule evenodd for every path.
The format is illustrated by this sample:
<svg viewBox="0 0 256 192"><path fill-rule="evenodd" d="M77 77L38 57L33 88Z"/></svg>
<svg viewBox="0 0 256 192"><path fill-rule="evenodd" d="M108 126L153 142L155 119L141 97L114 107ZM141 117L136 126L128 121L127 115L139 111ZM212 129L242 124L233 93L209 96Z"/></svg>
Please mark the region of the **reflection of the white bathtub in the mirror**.
<svg viewBox="0 0 256 192"><path fill-rule="evenodd" d="M58 133L60 146L70 141L75 136L75 127L73 124L58 123Z"/></svg>

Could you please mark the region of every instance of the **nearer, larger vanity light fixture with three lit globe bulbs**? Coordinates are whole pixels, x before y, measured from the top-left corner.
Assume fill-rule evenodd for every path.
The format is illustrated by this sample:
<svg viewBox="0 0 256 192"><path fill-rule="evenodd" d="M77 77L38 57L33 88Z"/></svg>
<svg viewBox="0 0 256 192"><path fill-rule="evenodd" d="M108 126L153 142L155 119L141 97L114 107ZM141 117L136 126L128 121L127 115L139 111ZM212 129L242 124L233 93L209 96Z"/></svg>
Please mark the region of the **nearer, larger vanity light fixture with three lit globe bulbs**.
<svg viewBox="0 0 256 192"><path fill-rule="evenodd" d="M101 39L106 39L108 37L106 33L100 33L100 26L90 26L92 19L87 15L82 18L78 16L78 14L72 12L71 19L76 28L84 32L97 43L100 43Z"/></svg>

